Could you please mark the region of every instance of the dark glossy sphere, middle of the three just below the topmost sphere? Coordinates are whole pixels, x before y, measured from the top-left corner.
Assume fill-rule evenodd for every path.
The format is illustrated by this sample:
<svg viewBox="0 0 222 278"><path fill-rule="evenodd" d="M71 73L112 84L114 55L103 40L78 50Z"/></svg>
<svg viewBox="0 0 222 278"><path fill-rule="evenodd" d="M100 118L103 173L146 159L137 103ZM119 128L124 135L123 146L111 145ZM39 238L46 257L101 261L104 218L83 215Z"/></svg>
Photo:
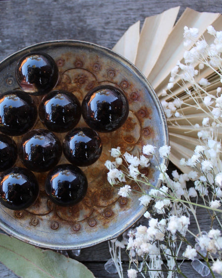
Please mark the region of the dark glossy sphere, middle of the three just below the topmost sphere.
<svg viewBox="0 0 222 278"><path fill-rule="evenodd" d="M81 106L74 94L55 90L43 97L38 106L38 115L49 130L66 132L79 122Z"/></svg>

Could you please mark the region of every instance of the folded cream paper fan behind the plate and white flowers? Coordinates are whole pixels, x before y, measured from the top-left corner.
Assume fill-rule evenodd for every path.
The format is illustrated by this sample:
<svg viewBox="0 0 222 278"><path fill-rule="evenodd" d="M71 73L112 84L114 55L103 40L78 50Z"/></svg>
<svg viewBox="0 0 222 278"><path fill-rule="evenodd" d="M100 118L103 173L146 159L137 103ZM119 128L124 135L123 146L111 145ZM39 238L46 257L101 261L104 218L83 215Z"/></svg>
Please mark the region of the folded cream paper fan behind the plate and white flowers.
<svg viewBox="0 0 222 278"><path fill-rule="evenodd" d="M179 162L182 158L190 158L195 146L199 145L198 130L194 128L194 125L196 123L201 125L206 113L189 106L195 104L185 93L185 86L189 88L191 84L188 82L185 84L180 77L175 78L171 93L163 95L162 91L166 90L171 71L177 62L183 63L184 61L184 27L197 28L198 36L203 35L205 40L211 43L214 38L212 39L213 36L208 34L207 27L212 25L215 30L221 31L222 15L186 8L175 24L179 8L171 8L161 14L146 18L141 33L139 22L135 23L120 38L113 50L130 60L144 73L161 102L171 102L177 98L186 104L177 110L182 115L180 118L170 116L167 122L171 145L170 160L183 172L187 172L187 167L180 165ZM210 82L210 85L206 87L209 94L217 94L221 81L213 69L204 68L200 71L199 78L208 79ZM204 96L202 93L200 98L203 100ZM219 130L218 138L222 139L222 130Z"/></svg>

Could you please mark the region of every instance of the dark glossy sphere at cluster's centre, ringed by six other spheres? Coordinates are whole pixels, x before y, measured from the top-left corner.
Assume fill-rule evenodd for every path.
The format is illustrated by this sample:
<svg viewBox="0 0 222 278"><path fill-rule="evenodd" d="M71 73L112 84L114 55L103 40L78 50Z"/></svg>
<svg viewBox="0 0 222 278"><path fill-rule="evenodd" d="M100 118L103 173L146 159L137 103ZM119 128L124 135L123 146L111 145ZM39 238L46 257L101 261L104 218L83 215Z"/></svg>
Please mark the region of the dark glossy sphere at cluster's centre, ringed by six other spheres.
<svg viewBox="0 0 222 278"><path fill-rule="evenodd" d="M33 129L27 132L18 147L23 164L34 172L51 170L62 155L59 139L49 130Z"/></svg>

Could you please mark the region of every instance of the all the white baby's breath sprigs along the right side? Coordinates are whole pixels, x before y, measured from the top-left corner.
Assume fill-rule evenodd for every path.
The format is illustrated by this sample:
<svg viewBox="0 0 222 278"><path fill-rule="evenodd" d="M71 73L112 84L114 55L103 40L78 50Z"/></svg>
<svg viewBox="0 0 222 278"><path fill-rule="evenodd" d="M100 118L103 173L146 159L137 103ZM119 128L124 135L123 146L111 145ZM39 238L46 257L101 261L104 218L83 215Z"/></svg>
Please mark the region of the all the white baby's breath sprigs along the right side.
<svg viewBox="0 0 222 278"><path fill-rule="evenodd" d="M217 32L213 26L209 26L208 33L214 36L214 41L210 45L203 37L199 38L198 29L184 28L184 44L190 49L184 53L184 62L178 62L172 69L166 90L162 91L162 96L169 94L174 99L170 102L162 101L166 117L171 118L169 119L170 124L178 125L179 118L186 119L183 112L186 105L192 106L206 115L202 118L201 124L200 121L194 124L187 119L187 123L192 125L192 130L196 132L200 142L189 159L180 161L181 165L189 169L188 173L179 174L177 170L174 170L172 178L170 178L166 172L166 164L158 161L157 157L163 161L169 158L170 146L162 146L157 150L155 146L148 144L143 147L143 155L140 158L129 153L122 155L120 148L117 147L111 149L111 156L115 160L113 162L108 160L105 163L109 170L108 181L111 185L120 186L118 195L130 197L132 190L128 185L128 179L131 180L131 183L134 180L139 185L140 181L143 181L141 184L147 184L150 188L147 192L143 186L139 198L140 205L149 207L149 211L144 213L145 218L148 219L147 225L140 225L129 230L128 237L122 241L116 240L116 246L119 248L127 245L130 263L136 267L136 269L128 270L129 278L136 278L137 273L142 272L143 268L148 271L151 278L164 277L161 271L163 256L167 261L168 277L174 277L172 274L180 270L176 265L176 260L183 241L186 243L183 252L184 258L196 261L198 256L201 256L202 259L206 259L208 267L212 271L222 275L222 234L213 226L213 222L217 221L222 227L219 214L217 214L222 212L222 146L220 138L222 89L217 85L209 93L207 89L211 87L210 79L201 77L201 71L209 67L215 72L215 75L219 76L222 83L222 31ZM183 98L184 101L175 98L172 93L174 84L179 79L183 84L188 84L185 87L186 98ZM181 86L181 84L178 85ZM154 187L146 175L140 172L141 168L148 167L153 163L154 158L157 159L158 179L162 182L160 188ZM187 187L188 181L192 181L192 187ZM193 198L195 198L194 201ZM202 199L202 204L198 203L198 198ZM205 208L206 215L209 215L212 223L209 232L201 231L198 223L198 206L201 206L202 209ZM189 231L190 215L196 222L198 232ZM187 232L195 238L194 246L189 242L187 244ZM140 267L138 256L143 260ZM215 257L217 260L214 259ZM212 266L209 265L209 259L212 260Z"/></svg>

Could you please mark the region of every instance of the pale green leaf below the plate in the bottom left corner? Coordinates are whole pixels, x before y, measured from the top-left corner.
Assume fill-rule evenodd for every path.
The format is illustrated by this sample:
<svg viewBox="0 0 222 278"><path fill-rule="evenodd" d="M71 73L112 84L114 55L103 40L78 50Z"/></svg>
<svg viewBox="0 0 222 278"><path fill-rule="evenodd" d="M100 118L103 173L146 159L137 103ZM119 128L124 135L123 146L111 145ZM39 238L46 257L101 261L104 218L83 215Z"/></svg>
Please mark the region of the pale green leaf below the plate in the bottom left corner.
<svg viewBox="0 0 222 278"><path fill-rule="evenodd" d="M0 234L0 261L22 278L95 278L83 264Z"/></svg>

